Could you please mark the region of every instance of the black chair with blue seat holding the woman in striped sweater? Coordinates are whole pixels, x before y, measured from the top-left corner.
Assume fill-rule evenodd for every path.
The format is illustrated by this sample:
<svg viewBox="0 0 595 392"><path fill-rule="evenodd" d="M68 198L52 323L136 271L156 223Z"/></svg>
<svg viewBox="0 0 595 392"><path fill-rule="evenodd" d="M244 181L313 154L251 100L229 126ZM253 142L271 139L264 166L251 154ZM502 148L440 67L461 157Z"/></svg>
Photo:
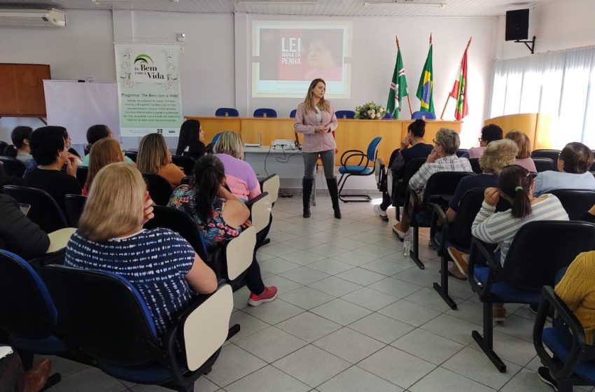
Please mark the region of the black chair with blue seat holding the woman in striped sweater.
<svg viewBox="0 0 595 392"><path fill-rule="evenodd" d="M506 365L493 351L493 304L539 304L543 286L554 284L556 272L568 267L578 253L594 248L595 225L586 222L526 223L514 236L504 266L493 246L472 239L468 281L484 308L483 336L474 330L472 337L500 372ZM478 256L487 260L486 267L477 265Z"/></svg>

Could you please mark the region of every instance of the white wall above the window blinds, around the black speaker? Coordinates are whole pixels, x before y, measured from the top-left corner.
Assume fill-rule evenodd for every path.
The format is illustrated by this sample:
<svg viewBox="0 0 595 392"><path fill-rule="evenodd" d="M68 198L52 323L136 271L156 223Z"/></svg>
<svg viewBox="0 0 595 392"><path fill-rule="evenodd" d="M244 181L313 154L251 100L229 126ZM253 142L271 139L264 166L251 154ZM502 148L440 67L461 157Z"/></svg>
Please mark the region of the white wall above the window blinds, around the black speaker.
<svg viewBox="0 0 595 392"><path fill-rule="evenodd" d="M535 53L595 45L595 1L553 0L531 8L528 36L536 36ZM522 43L504 41L505 17L498 18L496 58L531 55Z"/></svg>

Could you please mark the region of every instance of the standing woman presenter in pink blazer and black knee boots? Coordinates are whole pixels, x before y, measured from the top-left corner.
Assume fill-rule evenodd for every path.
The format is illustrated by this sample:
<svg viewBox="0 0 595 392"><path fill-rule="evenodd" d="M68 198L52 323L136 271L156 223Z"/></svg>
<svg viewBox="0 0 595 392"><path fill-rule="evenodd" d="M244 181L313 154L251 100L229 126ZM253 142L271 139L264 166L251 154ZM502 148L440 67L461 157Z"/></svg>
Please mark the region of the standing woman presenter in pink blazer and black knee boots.
<svg viewBox="0 0 595 392"><path fill-rule="evenodd" d="M324 99L326 83L318 78L312 80L306 99L297 105L295 123L296 132L304 134L302 156L304 157L304 178L302 179L302 200L304 218L310 217L310 195L316 172L316 160L320 156L326 177L328 193L332 200L335 218L341 218L339 210L339 188L335 177L335 137L332 132L337 129L337 116L330 102Z"/></svg>

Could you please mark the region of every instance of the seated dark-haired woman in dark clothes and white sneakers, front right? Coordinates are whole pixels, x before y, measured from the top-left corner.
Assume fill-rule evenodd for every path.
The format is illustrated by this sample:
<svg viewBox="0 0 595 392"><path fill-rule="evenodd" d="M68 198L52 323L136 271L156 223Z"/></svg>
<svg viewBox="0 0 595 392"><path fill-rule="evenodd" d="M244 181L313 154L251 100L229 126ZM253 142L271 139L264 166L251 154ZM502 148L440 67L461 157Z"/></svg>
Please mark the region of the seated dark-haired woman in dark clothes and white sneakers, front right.
<svg viewBox="0 0 595 392"><path fill-rule="evenodd" d="M392 162L388 162L388 167L393 171L393 181L399 181L403 176L403 169L407 162L414 158L428 158L434 146L423 143L423 135L426 134L426 122L424 120L415 120L407 127L407 136L401 141L401 148L395 154ZM411 148L409 148L411 146ZM374 206L374 214L381 218L386 216L386 209L391 205L392 189L382 193L382 204Z"/></svg>

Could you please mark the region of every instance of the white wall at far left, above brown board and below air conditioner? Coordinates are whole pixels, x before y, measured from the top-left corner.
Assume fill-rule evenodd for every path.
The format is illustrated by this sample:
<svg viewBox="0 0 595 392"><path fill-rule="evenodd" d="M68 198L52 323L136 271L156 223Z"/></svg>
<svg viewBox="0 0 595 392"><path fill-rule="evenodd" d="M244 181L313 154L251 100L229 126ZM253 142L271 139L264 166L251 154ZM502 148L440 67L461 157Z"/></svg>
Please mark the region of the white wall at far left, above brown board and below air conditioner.
<svg viewBox="0 0 595 392"><path fill-rule="evenodd" d="M50 64L52 79L115 80L111 12L69 10L57 28L0 27L0 62ZM73 113L74 115L75 113ZM35 118L0 118L0 140L16 125L41 127Z"/></svg>

